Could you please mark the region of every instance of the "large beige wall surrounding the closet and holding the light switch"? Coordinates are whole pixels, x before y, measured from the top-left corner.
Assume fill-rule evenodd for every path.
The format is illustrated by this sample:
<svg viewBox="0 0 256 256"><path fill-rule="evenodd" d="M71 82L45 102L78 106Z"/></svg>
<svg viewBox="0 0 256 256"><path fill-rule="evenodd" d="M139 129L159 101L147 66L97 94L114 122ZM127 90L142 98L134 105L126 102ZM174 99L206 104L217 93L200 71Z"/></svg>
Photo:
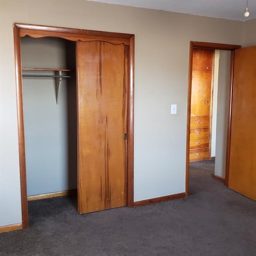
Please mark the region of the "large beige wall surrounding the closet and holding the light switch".
<svg viewBox="0 0 256 256"><path fill-rule="evenodd" d="M13 22L135 34L134 200L185 191L189 42L242 44L243 22L84 0L0 1L0 226L21 222Z"/></svg>

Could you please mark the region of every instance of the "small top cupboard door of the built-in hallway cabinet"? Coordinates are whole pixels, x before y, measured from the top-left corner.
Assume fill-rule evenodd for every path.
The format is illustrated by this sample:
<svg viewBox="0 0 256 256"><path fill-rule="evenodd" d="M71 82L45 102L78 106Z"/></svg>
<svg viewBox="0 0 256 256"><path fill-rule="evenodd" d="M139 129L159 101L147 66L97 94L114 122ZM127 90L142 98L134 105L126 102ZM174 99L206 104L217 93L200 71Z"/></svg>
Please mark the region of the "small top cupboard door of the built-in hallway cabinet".
<svg viewBox="0 0 256 256"><path fill-rule="evenodd" d="M212 50L193 49L192 70L212 70Z"/></svg>

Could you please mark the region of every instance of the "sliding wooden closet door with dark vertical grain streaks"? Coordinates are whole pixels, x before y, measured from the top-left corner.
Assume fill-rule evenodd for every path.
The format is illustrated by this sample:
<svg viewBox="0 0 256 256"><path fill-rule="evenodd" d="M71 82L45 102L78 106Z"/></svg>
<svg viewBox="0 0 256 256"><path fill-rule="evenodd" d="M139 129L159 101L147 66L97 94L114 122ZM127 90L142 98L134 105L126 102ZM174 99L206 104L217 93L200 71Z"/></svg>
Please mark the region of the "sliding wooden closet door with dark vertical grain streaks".
<svg viewBox="0 0 256 256"><path fill-rule="evenodd" d="M127 205L128 46L76 44L78 212Z"/></svg>

